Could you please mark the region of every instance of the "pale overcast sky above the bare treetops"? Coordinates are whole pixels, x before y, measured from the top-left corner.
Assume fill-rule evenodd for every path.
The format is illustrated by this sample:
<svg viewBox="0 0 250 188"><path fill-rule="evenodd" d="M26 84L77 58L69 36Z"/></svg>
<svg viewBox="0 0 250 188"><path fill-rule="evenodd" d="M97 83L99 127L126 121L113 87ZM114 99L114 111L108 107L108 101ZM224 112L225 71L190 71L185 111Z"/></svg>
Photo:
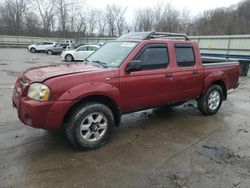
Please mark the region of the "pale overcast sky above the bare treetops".
<svg viewBox="0 0 250 188"><path fill-rule="evenodd" d="M90 7L104 9L107 4L115 3L127 7L126 18L131 21L134 11L140 8L153 7L157 0L85 0ZM240 0L162 0L163 3L171 3L178 10L189 9L192 16L196 16L204 10L218 7L229 7Z"/></svg>

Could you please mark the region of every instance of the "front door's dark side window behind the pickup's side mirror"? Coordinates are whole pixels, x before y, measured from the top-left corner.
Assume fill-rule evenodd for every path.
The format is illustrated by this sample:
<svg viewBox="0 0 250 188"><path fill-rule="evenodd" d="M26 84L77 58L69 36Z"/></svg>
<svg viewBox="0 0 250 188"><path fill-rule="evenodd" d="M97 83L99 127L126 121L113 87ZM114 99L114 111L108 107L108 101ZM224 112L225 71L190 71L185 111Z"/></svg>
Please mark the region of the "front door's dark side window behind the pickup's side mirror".
<svg viewBox="0 0 250 188"><path fill-rule="evenodd" d="M150 44L142 49L136 60L141 61L142 70L162 69L169 64L168 49L165 44Z"/></svg>

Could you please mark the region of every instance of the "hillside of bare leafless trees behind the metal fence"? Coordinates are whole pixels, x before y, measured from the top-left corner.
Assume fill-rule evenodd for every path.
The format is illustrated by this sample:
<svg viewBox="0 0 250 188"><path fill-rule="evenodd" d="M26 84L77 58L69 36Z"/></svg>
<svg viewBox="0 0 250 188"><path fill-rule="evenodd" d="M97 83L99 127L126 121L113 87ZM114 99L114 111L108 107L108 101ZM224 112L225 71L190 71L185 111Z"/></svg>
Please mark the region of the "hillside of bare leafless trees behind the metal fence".
<svg viewBox="0 0 250 188"><path fill-rule="evenodd" d="M158 2L152 8L136 10L132 23L126 20L127 7L86 7L77 0L3 0L0 34L77 38L153 30L188 35L250 34L250 0L205 11L195 18L188 10Z"/></svg>

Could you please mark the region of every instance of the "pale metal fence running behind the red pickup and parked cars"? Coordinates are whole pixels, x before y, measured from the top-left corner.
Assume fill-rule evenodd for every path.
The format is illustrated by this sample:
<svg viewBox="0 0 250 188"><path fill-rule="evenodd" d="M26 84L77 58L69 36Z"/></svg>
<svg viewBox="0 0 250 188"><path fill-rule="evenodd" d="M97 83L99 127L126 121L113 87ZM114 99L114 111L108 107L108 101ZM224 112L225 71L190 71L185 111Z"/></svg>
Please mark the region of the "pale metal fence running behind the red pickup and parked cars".
<svg viewBox="0 0 250 188"><path fill-rule="evenodd" d="M97 44L114 40L114 37L51 38L0 35L0 47L27 47L42 41L74 40L77 44ZM192 36L197 41L202 54L234 59L250 59L250 35Z"/></svg>

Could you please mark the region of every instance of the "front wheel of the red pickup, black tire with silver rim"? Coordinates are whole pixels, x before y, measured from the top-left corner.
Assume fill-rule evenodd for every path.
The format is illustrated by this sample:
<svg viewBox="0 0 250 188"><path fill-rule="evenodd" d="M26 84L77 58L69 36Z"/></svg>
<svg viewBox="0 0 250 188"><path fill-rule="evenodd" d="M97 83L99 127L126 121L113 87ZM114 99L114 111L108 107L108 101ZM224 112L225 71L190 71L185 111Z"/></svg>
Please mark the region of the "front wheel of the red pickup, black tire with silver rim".
<svg viewBox="0 0 250 188"><path fill-rule="evenodd" d="M97 116L103 115L103 117L105 117L105 121L106 121L106 129L103 132L99 132L101 130L94 130L93 126L98 126L101 125L99 123L90 123L88 122L87 125L89 126L88 130L80 130L81 124L84 124L85 121L89 121L89 117L92 116L93 120L94 120L94 114L98 114ZM97 117L95 118L95 120L97 119ZM104 119L103 119L104 121ZM90 150L90 149L95 149L98 148L104 144L107 143L107 141L110 138L112 129L114 127L114 115L112 113L112 111L104 104L100 104L100 103L86 103L86 104L81 104L79 106L77 106L72 113L69 115L68 119L66 120L65 124L64 124L64 129L65 129L65 133L66 136L69 140L69 142L76 147L77 149L81 149L81 150ZM103 125L105 124L105 122L103 123ZM92 130L93 129L93 130ZM93 140L93 138L91 138L93 135L95 137L95 134L98 132L99 135L102 135L99 140ZM89 136L89 138L84 138L84 136L89 134L92 134L91 136ZM92 141L91 141L92 139Z"/></svg>

